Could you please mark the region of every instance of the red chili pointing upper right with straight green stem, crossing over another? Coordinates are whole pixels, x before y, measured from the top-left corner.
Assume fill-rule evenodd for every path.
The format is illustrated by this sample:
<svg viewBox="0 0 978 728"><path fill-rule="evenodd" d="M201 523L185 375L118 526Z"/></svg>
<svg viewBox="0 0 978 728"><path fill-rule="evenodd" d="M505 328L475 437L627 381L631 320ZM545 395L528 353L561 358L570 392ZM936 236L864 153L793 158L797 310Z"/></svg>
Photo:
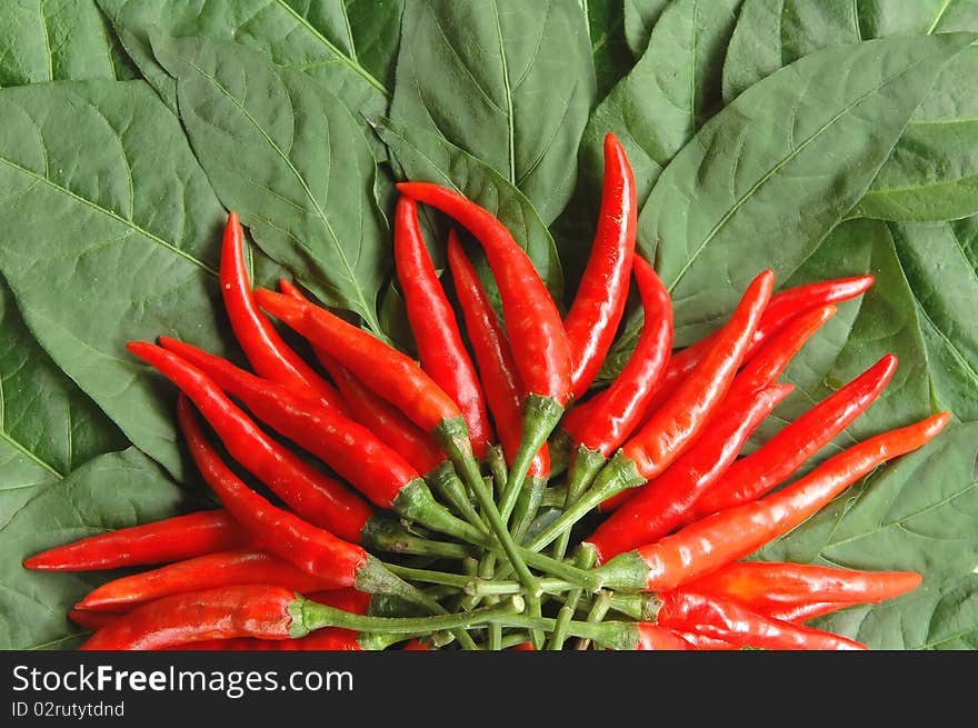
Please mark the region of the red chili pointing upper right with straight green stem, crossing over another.
<svg viewBox="0 0 978 728"><path fill-rule="evenodd" d="M709 353L655 417L615 453L591 489L530 541L528 549L543 548L602 500L651 480L696 441L722 405L772 285L770 270L755 278Z"/></svg>

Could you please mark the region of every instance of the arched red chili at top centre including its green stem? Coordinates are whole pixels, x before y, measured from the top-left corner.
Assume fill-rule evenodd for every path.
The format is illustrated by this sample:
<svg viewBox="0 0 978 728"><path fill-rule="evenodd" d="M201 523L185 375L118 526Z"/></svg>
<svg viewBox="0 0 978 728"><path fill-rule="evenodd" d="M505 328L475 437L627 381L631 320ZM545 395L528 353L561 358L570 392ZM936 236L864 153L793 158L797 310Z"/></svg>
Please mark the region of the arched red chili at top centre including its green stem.
<svg viewBox="0 0 978 728"><path fill-rule="evenodd" d="M560 311L529 256L492 213L430 182L401 182L398 189L467 228L486 251L499 288L509 345L527 392L520 447L500 498L500 510L509 512L522 491L530 462L557 427L572 395L570 345Z"/></svg>

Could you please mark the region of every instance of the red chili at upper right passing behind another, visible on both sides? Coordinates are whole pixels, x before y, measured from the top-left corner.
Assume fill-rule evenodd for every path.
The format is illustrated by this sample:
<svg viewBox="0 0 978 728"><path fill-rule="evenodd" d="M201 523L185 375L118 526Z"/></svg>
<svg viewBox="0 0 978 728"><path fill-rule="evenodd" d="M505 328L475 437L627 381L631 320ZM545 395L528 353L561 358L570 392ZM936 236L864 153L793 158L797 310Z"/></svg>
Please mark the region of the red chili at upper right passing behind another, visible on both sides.
<svg viewBox="0 0 978 728"><path fill-rule="evenodd" d="M745 360L749 360L765 341L778 333L792 319L812 308L841 303L856 298L866 292L872 286L872 276L857 276L856 278L840 278L796 286L776 293L765 309L754 333L754 339L747 348ZM646 418L650 417L679 386L679 382L696 368L699 360L709 350L716 336L716 332L711 333L672 355L658 390L647 405Z"/></svg>

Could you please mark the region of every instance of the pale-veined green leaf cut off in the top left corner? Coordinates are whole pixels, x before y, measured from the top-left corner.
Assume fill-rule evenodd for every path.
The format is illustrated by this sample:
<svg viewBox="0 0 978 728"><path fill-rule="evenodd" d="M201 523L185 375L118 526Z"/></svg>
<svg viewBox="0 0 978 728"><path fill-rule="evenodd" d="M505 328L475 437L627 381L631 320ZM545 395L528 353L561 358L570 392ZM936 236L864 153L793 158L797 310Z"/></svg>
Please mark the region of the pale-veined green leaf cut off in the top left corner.
<svg viewBox="0 0 978 728"><path fill-rule="evenodd" d="M129 78L129 63L94 0L0 3L0 88Z"/></svg>

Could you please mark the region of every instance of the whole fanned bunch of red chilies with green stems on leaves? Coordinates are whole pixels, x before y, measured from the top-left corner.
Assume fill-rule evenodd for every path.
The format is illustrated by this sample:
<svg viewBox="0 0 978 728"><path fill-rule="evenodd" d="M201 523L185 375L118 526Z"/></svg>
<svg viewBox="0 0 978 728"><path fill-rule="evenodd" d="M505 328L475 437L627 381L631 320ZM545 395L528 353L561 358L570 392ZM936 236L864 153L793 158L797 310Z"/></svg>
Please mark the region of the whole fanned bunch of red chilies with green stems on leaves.
<svg viewBox="0 0 978 728"><path fill-rule="evenodd" d="M948 420L872 437L790 480L879 397L897 366L887 356L741 455L791 391L777 381L788 362L871 277L772 295L762 271L721 328L673 352L671 301L635 252L635 180L612 134L566 316L489 211L437 185L399 188L395 259L420 361L288 281L252 290L234 213L220 286L251 371L168 337L129 345L179 390L187 448L223 508L27 560L153 567L76 606L70 619L93 631L84 648L860 649L806 622L920 584L741 560ZM419 203L467 230L488 262L480 277L449 236L460 317ZM645 315L635 353L589 393L632 278Z"/></svg>

